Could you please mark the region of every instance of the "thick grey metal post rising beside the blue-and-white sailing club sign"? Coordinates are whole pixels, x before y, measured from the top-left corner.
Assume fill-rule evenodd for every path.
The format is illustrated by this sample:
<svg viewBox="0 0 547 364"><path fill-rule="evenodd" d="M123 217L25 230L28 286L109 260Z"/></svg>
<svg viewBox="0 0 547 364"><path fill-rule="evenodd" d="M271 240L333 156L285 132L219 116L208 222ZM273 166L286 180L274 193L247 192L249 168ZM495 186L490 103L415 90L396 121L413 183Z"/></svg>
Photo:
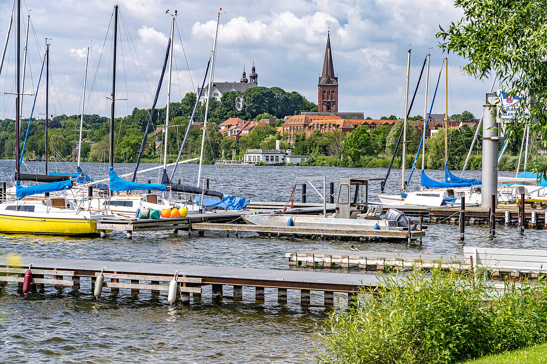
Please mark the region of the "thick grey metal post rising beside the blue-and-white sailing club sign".
<svg viewBox="0 0 547 364"><path fill-rule="evenodd" d="M498 129L496 127L496 93L486 93L482 125L481 207L491 208L492 195L498 192Z"/></svg>

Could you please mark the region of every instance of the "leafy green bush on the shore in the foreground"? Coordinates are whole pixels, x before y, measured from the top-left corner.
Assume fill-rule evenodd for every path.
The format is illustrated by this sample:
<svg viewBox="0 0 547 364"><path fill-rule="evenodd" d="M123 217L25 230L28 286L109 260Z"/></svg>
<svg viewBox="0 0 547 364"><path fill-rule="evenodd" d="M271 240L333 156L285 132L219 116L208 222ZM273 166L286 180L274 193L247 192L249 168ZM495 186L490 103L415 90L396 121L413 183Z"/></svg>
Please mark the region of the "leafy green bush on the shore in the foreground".
<svg viewBox="0 0 547 364"><path fill-rule="evenodd" d="M496 295L481 279L437 270L381 280L374 297L360 293L357 307L334 310L317 330L318 362L454 363L547 339L543 282Z"/></svg>

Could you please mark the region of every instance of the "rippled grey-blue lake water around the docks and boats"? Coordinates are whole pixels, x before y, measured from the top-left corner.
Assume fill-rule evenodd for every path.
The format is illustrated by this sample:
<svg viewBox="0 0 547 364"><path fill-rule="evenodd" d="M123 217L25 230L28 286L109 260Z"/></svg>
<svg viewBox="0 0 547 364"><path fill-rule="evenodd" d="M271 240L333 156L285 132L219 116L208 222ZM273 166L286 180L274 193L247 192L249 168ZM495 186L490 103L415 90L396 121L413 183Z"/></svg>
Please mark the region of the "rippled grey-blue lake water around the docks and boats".
<svg viewBox="0 0 547 364"><path fill-rule="evenodd" d="M13 176L13 161L0 161L0 177ZM29 171L42 170L43 163L30 162ZM141 169L153 165L143 165ZM54 166L50 166L53 168ZM75 169L73 163L55 166L58 172ZM107 166L82 163L95 179L106 177ZM133 166L118 165L118 174L131 172ZM22 172L27 172L23 169ZM175 179L195 181L196 165L180 168ZM408 173L410 170L406 172ZM385 177L383 168L335 167L242 167L204 166L203 177L211 189L259 201L286 201L297 176L327 176L327 182L340 177ZM442 180L443 171L427 171ZM500 172L511 176L514 172ZM459 175L459 173L458 173ZM470 171L464 177L479 177ZM142 180L158 179L150 172ZM322 183L317 184L318 190ZM414 186L419 176L414 177ZM386 191L397 192L400 171L394 170ZM412 184L411 184L412 186ZM328 185L327 185L328 189ZM370 196L380 190L371 186ZM308 187L308 202L319 202ZM328 193L328 191L327 191ZM296 196L300 196L297 187ZM372 197L375 198L375 197ZM372 199L371 198L371 199ZM413 251L417 253L456 254L463 246L544 249L545 233L527 230L519 234L513 226L497 226L491 239L487 226L466 226L465 242L459 241L457 225L434 225L427 230L422 245L364 243L361 250ZM124 233L109 233L106 239L0 235L0 254L42 257L72 257L135 262L185 263L211 266L289 269L285 253L304 249L348 249L350 244L336 241L259 237L254 233L226 238L219 233L203 237L174 236L169 232L135 233L126 240ZM296 269L296 268L293 268ZM298 268L306 269L306 268ZM353 274L333 269L340 274ZM371 273L373 274L373 273ZM309 363L313 356L313 331L321 325L327 311L319 307L301 308L299 292L289 290L289 304L277 304L277 293L266 289L264 303L254 303L254 290L244 289L249 301L211 302L211 289L204 287L203 299L189 307L170 307L165 297L149 294L131 296L103 293L94 300L83 281L79 291L46 287L42 292L23 297L14 284L0 296L0 357L2 362L63 363ZM231 289L225 295L231 295ZM312 304L321 303L312 295Z"/></svg>

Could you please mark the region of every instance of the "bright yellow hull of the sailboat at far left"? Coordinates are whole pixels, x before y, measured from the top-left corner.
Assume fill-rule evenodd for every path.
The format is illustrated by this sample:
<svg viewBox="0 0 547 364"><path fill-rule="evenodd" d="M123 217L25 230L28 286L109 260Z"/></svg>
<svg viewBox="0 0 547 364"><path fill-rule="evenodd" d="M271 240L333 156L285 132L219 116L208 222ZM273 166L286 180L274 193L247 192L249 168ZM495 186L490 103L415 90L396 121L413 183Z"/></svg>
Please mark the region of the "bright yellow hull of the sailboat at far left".
<svg viewBox="0 0 547 364"><path fill-rule="evenodd" d="M97 222L88 219L33 218L0 214L0 232L52 235L97 233Z"/></svg>

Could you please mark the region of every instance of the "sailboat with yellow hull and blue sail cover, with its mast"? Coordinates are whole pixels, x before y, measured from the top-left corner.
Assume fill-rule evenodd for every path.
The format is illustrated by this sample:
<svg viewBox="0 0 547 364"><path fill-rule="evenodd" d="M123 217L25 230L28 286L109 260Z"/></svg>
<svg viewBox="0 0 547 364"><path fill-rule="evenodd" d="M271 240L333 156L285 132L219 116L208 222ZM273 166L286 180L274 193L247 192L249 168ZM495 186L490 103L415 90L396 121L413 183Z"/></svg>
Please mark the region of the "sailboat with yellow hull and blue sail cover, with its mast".
<svg viewBox="0 0 547 364"><path fill-rule="evenodd" d="M15 102L15 189L16 200L0 204L0 232L4 233L39 233L39 234L92 234L97 233L96 220L89 212L74 206L65 198L50 198L53 191L67 190L72 187L68 177L56 177L39 174L20 173L20 127L21 127L21 88L20 88L20 54L21 54L21 1L16 2L16 102ZM46 44L46 64L49 66L49 44ZM49 67L46 68L46 80L49 78ZM47 83L47 82L46 82ZM46 114L47 111L46 87ZM47 133L48 115L46 115ZM47 138L46 138L47 143ZM46 144L47 145L47 144ZM46 146L47 148L47 146ZM47 155L47 149L46 149ZM46 158L47 163L47 158ZM47 166L47 165L46 165ZM47 170L47 167L46 167ZM34 180L48 183L23 187L21 180ZM32 198L27 196L39 195Z"/></svg>

